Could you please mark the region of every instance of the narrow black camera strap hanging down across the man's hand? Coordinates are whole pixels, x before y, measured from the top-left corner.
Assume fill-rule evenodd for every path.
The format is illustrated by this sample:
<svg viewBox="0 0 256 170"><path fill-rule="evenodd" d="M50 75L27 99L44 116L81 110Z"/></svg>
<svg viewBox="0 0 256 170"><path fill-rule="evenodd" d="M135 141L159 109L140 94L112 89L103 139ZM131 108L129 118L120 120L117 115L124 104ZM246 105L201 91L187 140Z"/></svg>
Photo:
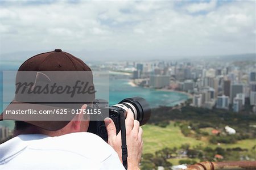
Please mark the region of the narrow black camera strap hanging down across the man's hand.
<svg viewBox="0 0 256 170"><path fill-rule="evenodd" d="M128 168L127 165L127 145L126 145L126 129L125 129L125 114L120 114L120 122L121 122L121 141L122 141L122 161L123 161L123 167L125 169Z"/></svg>

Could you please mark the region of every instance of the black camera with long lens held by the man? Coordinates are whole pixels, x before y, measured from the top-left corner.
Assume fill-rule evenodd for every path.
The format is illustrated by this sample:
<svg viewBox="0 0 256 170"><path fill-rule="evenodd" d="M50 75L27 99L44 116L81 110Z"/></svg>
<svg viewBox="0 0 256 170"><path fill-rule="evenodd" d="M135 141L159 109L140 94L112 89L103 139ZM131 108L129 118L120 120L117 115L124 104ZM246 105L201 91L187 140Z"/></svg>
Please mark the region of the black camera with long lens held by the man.
<svg viewBox="0 0 256 170"><path fill-rule="evenodd" d="M146 124L150 119L151 109L149 104L142 97L131 97L123 99L113 106L108 105L108 101L104 99L96 99L93 102L93 108L101 109L98 114L98 121L90 121L88 132L99 135L105 141L108 141L108 133L104 121L105 117L111 118L117 129L117 134L121 130L121 117L126 117L127 109L131 109L134 114L134 120L138 120L140 125ZM108 115L108 116L105 116Z"/></svg>

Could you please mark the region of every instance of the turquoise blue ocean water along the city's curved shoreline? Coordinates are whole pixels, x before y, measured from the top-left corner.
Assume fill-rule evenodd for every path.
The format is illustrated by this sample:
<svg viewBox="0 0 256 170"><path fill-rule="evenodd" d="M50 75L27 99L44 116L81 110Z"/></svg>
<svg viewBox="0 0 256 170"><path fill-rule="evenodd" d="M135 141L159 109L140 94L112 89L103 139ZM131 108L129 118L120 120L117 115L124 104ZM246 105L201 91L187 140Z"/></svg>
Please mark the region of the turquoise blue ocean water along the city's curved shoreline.
<svg viewBox="0 0 256 170"><path fill-rule="evenodd" d="M1 63L1 70L18 70L20 63ZM97 90L97 86L101 86L102 82L96 79L94 82ZM3 110L2 105L2 74L0 75L0 111ZM14 86L14 85L13 85ZM11 94L13 95L13 94ZM181 101L187 100L188 96L180 94L179 92L166 92L158 91L150 88L133 87L129 84L129 79L110 79L109 80L109 104L114 105L119 101L127 98L140 96L148 101L151 108L159 107L159 105L173 106L179 104ZM11 96L10 96L11 97ZM96 97L102 97L97 95Z"/></svg>

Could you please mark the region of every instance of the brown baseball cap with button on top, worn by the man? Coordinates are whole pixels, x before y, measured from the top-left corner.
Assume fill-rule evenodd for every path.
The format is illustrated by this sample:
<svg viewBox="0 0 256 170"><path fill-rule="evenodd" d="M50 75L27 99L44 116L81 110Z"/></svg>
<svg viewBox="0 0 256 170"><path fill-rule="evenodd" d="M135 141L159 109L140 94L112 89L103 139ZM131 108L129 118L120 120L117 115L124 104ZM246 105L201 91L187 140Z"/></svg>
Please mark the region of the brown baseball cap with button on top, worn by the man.
<svg viewBox="0 0 256 170"><path fill-rule="evenodd" d="M82 71L86 71L86 75L79 74ZM31 74L32 73L32 74ZM54 75L52 74L54 73ZM72 73L72 74L70 74ZM36 75L35 75L36 74ZM43 77L43 78L42 78ZM92 70L88 65L86 65L81 59L69 54L67 52L63 52L61 49L55 49L52 52L40 53L36 56L33 56L19 67L18 73L16 74L16 91L17 91L17 82L34 82L34 85L40 84L45 85L46 80L49 80L51 83L62 83L66 84L73 83L77 80L77 77L82 78L82 81L89 82L90 87L94 88L93 84L93 75ZM79 79L81 82L81 79ZM42 85L42 86L43 86ZM68 84L70 85L70 84ZM47 85L48 86L48 85ZM69 87L69 86L68 86ZM25 92L26 94L26 92ZM58 94L59 95L59 94ZM65 94L67 95L67 94ZM68 94L69 95L69 94ZM79 97L77 97L79 96ZM54 115L47 115L50 117L50 120L44 120L46 115L36 115L37 120L31 120L28 118L24 118L24 115L19 114L15 116L7 116L5 112L7 110L17 111L18 109L34 109L34 110L52 110L53 109L73 109L74 107L78 108L84 103L92 103L95 94L90 93L89 95L75 95L75 97L60 97L46 94L33 94L27 93L26 95L22 93L15 92L15 99L7 106L5 111L0 115L0 121L2 120L15 120L15 121L24 121L29 124L38 126L39 128L43 128L46 130L59 130L64 128L76 114L71 114L70 110L68 114L57 115L61 116L61 119L56 120ZM82 98L81 98L82 97ZM63 100L65 98L65 100ZM66 99L68 98L68 99ZM58 102L61 101L61 102ZM63 102L64 101L64 102ZM52 117L51 117L52 116ZM49 118L48 117L48 118ZM42 120L40 119L42 118ZM59 117L57 117L58 119Z"/></svg>

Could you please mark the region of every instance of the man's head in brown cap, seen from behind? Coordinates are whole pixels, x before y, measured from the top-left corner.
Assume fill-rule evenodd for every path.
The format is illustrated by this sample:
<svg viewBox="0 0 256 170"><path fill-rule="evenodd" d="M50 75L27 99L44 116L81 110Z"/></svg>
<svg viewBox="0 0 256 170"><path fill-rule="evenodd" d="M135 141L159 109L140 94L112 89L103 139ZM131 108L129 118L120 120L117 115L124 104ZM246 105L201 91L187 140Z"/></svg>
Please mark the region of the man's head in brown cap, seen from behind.
<svg viewBox="0 0 256 170"><path fill-rule="evenodd" d="M15 120L16 134L54 136L86 131L89 118L79 114L79 111L93 102L94 92L92 70L81 59L61 49L41 53L27 59L19 67L15 99L5 109L2 118L0 116L0 121L3 118ZM26 117L28 115L5 118L6 111L17 109L58 112L54 115L31 115L34 116L32 118Z"/></svg>

